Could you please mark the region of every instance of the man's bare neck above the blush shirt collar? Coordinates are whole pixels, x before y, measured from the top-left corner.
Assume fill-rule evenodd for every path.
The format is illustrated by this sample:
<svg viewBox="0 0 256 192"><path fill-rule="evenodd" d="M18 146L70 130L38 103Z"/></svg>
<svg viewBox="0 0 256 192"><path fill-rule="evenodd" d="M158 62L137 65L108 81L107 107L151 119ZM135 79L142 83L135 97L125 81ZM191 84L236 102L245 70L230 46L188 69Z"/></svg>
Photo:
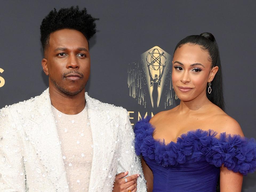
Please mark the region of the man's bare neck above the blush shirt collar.
<svg viewBox="0 0 256 192"><path fill-rule="evenodd" d="M65 95L55 87L49 87L51 105L67 115L76 115L85 108L85 89L76 95Z"/></svg>

